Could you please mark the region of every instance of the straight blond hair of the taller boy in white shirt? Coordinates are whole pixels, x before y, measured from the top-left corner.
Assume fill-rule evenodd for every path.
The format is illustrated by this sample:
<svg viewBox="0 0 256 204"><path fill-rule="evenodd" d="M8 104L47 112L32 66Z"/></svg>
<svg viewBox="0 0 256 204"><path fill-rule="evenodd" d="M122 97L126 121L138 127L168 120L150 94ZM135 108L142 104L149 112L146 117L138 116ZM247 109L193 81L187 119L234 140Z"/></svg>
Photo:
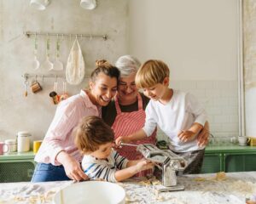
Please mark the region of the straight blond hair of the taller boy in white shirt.
<svg viewBox="0 0 256 204"><path fill-rule="evenodd" d="M137 88L150 88L164 82L169 77L169 68L161 60L149 59L137 71L135 82Z"/></svg>

